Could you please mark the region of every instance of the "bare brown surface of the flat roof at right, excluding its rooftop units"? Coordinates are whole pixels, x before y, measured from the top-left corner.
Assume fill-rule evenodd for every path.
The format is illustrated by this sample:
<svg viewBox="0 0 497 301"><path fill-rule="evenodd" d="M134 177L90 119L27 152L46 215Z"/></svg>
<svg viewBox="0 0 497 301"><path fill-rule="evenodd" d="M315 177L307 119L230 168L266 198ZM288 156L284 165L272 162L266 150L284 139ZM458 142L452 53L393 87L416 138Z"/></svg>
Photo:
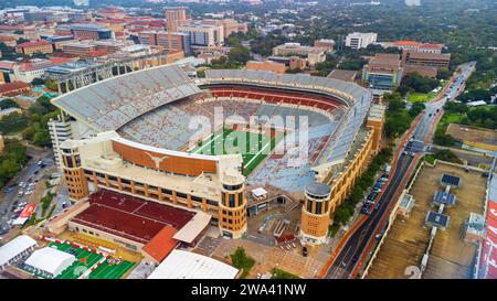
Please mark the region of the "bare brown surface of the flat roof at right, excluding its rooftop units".
<svg viewBox="0 0 497 301"><path fill-rule="evenodd" d="M463 168L437 163L434 168L424 165L409 192L415 200L410 217L395 218L377 258L372 262L367 278L403 279L408 278L405 269L420 267L430 240L430 229L423 228L435 191L442 189L442 174L461 176L464 185L453 193L457 204L445 207L444 214L451 216L451 225L436 232L423 278L427 279L465 279L469 278L474 267L476 246L465 243L461 236L470 213L483 214L486 179L480 172L465 172Z"/></svg>

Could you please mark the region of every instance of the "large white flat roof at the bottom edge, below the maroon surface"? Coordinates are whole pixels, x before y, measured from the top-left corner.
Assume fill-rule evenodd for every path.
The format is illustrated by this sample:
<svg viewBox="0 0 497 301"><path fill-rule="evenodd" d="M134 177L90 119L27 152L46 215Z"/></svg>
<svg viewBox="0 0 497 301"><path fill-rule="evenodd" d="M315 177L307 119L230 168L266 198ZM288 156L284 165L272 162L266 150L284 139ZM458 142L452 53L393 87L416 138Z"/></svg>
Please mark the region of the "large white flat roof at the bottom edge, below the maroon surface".
<svg viewBox="0 0 497 301"><path fill-rule="evenodd" d="M239 269L210 257L173 250L148 279L234 279Z"/></svg>

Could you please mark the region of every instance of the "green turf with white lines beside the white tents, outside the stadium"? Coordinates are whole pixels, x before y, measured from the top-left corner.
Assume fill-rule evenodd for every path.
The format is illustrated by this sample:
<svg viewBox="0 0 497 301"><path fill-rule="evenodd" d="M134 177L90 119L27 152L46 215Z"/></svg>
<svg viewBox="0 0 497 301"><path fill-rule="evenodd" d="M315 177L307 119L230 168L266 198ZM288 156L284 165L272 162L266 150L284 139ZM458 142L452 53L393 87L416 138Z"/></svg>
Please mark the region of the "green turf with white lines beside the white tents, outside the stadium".
<svg viewBox="0 0 497 301"><path fill-rule="evenodd" d="M76 257L76 261L62 271L56 279L77 279L83 272L93 267L103 258L102 255L86 251L81 248L73 247L67 244L50 243L50 247L56 247L59 250L72 254ZM107 260L102 262L88 276L89 279L120 279L135 264L130 261L121 261L119 265L109 265Z"/></svg>

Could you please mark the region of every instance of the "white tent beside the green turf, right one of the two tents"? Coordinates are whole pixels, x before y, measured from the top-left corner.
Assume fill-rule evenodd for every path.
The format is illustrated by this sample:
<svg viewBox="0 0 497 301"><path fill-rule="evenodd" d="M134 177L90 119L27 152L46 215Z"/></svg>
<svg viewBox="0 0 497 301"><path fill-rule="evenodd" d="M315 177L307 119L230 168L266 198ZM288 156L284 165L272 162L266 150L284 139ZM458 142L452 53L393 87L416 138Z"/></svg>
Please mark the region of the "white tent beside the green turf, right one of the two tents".
<svg viewBox="0 0 497 301"><path fill-rule="evenodd" d="M74 255L45 247L35 250L24 264L47 277L56 277L75 260Z"/></svg>

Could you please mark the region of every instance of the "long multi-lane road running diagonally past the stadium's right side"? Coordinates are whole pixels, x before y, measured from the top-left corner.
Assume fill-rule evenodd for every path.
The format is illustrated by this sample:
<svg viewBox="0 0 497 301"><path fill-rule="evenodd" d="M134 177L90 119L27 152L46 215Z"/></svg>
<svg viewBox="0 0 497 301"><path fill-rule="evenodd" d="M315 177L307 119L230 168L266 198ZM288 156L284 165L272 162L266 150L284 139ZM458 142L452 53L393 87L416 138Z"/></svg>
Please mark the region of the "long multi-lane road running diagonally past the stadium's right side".
<svg viewBox="0 0 497 301"><path fill-rule="evenodd" d="M434 128L442 115L443 106L446 101L453 100L463 89L464 85L474 71L475 64L466 63L459 66L445 90L435 101L426 104L421 120L412 129L413 143L409 152L404 154L399 151L396 164L390 172L390 179L384 186L383 193L378 197L378 206L366 219L360 218L358 227L351 227L353 233L346 236L343 244L339 244L340 249L336 255L331 266L327 270L325 278L353 278L364 264L374 239L380 238L384 227L385 217L390 214L391 205L404 189L417 159L426 150L426 146L433 136ZM403 146L399 146L403 148Z"/></svg>

